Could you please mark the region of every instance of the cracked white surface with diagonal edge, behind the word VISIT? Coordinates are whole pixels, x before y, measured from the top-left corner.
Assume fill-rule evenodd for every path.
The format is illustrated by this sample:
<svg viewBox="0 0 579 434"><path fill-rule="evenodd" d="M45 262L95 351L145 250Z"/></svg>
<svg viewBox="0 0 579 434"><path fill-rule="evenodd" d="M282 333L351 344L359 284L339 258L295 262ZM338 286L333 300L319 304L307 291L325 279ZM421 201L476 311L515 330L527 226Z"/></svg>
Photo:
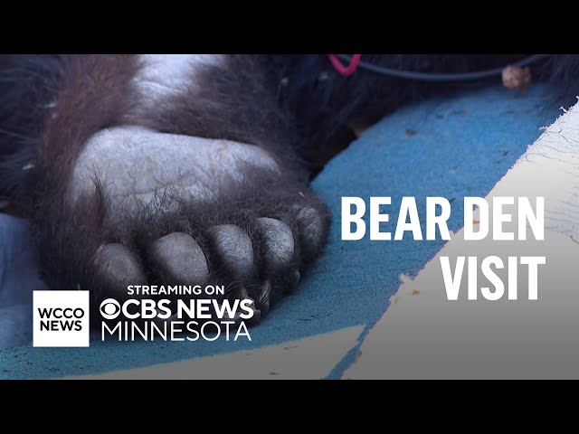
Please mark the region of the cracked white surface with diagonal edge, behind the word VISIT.
<svg viewBox="0 0 579 434"><path fill-rule="evenodd" d="M343 378L579 378L579 106L546 128L487 196L545 197L545 240L464 241L452 236L414 280L406 279L361 345ZM517 240L517 212L507 229ZM480 219L481 216L475 217ZM492 229L492 222L489 223ZM509 229L510 228L510 229ZM422 242L422 241L416 241ZM468 300L467 267L460 297L449 301L441 257L504 259L497 275L505 296ZM538 299L528 300L527 267L518 265L517 300L508 300L508 256L546 257ZM478 287L490 287L477 271Z"/></svg>

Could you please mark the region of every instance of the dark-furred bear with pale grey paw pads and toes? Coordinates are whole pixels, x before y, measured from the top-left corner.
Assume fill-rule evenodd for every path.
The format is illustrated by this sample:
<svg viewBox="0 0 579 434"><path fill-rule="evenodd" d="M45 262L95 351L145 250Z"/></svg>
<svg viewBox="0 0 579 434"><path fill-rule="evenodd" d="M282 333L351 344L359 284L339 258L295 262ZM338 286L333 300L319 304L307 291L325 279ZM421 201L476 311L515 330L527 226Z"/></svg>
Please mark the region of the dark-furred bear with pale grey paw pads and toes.
<svg viewBox="0 0 579 434"><path fill-rule="evenodd" d="M324 247L308 182L356 128L528 59L368 54L345 77L327 55L3 55L0 201L50 288L219 284L264 316ZM531 60L572 92L579 56Z"/></svg>

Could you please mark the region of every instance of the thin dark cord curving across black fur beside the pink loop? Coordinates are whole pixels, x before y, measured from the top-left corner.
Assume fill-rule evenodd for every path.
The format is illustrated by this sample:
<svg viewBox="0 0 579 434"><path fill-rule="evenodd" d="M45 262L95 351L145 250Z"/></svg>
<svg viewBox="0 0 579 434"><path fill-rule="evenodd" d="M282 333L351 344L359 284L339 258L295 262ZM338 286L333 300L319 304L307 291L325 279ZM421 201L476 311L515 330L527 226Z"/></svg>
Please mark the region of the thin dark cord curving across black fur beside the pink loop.
<svg viewBox="0 0 579 434"><path fill-rule="evenodd" d="M546 59L548 56L549 54L533 54L532 56L528 56L525 59L512 63L511 66L522 68L536 61ZM349 62L352 60L352 57L346 54L337 54L337 57L343 61ZM422 80L422 81L467 81L467 80L488 79L489 77L501 75L502 71L505 69L505 67L502 67L486 71L447 74L436 72L414 72L414 71L394 70L392 68L374 65L372 63L368 63L367 61L360 61L358 63L358 68L376 72L382 75L389 75L391 77L396 77L399 79Z"/></svg>

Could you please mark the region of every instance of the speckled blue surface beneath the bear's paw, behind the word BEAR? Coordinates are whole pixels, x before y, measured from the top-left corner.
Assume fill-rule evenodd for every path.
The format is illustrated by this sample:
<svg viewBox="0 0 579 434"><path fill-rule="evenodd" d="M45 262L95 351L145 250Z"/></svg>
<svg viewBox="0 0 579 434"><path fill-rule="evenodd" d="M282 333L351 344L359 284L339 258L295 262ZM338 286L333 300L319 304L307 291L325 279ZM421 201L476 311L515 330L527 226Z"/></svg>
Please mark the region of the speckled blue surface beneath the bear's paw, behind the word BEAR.
<svg viewBox="0 0 579 434"><path fill-rule="evenodd" d="M330 162L313 184L334 213L324 256L302 281L299 292L284 299L267 321L251 330L252 342L93 341L90 348L54 349L24 344L0 351L0 378L101 373L280 344L351 325L367 328L384 312L400 275L415 276L442 242L416 242L411 237L403 241L341 241L341 197L391 196L393 204L388 210L395 220L403 196L416 197L422 216L424 198L441 195L453 201L449 228L457 231L462 197L488 193L539 137L538 128L555 120L560 105L546 86L534 85L526 96L496 87L414 105L367 130ZM2 248L0 245L0 253ZM0 256L0 276L3 266ZM0 287L0 295L9 291L10 285L13 292L14 285L22 286L21 290L31 288L30 282L14 283L12 279L5 283L6 288ZM331 378L339 377L353 354L337 365Z"/></svg>

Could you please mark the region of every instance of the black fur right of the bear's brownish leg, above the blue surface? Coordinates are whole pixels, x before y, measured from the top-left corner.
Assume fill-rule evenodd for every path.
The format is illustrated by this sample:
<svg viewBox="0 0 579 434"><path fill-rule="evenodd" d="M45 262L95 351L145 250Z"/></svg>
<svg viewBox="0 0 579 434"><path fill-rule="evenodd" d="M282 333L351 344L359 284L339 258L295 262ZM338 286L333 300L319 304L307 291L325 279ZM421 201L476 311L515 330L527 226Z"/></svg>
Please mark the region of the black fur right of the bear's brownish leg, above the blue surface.
<svg viewBox="0 0 579 434"><path fill-rule="evenodd" d="M363 60L403 71L470 72L498 68L526 57L521 54L364 54ZM436 95L451 96L491 83L500 77L467 82L426 82L392 78L358 68L343 77L326 55L264 55L270 86L280 105L295 119L307 139L310 167L318 170L354 137L352 126L367 127L405 103ZM579 56L551 55L531 66L534 80L555 82L574 98L579 88ZM314 161L312 161L314 160Z"/></svg>

